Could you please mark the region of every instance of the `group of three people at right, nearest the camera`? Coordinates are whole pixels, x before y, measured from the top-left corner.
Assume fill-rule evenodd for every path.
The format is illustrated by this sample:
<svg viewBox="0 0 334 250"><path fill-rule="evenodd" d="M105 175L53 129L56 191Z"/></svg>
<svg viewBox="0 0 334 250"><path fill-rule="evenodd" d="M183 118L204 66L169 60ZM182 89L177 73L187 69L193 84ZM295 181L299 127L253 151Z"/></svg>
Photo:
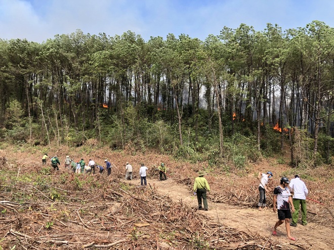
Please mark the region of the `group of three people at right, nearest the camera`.
<svg viewBox="0 0 334 250"><path fill-rule="evenodd" d="M260 172L258 175L260 179L260 199L258 203L260 211L266 208L266 191L268 191L267 184L272 176L272 172ZM291 197L291 192L293 193L293 197ZM308 193L309 191L304 181L301 180L298 174L296 174L295 178L291 181L289 181L286 177L281 178L280 185L274 189L273 211L277 211L278 221L272 227L273 235L277 235L276 228L285 222L287 237L291 240L296 240L296 238L292 237L290 234L290 226L297 227L300 207L302 211L302 224L304 226L307 225L306 197ZM290 207L293 212L292 214L290 212ZM290 219L292 219L291 222Z"/></svg>

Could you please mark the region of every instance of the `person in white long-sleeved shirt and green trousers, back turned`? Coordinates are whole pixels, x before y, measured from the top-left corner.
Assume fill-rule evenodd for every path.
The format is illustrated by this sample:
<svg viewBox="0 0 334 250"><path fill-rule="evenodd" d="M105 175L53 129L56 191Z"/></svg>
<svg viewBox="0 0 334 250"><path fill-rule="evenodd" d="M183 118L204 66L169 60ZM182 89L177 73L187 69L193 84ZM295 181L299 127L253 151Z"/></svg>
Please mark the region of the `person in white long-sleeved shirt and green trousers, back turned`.
<svg viewBox="0 0 334 250"><path fill-rule="evenodd" d="M306 226L306 197L309 194L309 190L307 189L304 181L301 180L301 177L298 174L296 174L295 178L290 181L289 188L290 191L294 193L293 203L295 208L295 212L292 214L292 221L290 223L290 226L297 227L297 222L299 218L299 206L301 207L302 211L302 224L303 226Z"/></svg>

